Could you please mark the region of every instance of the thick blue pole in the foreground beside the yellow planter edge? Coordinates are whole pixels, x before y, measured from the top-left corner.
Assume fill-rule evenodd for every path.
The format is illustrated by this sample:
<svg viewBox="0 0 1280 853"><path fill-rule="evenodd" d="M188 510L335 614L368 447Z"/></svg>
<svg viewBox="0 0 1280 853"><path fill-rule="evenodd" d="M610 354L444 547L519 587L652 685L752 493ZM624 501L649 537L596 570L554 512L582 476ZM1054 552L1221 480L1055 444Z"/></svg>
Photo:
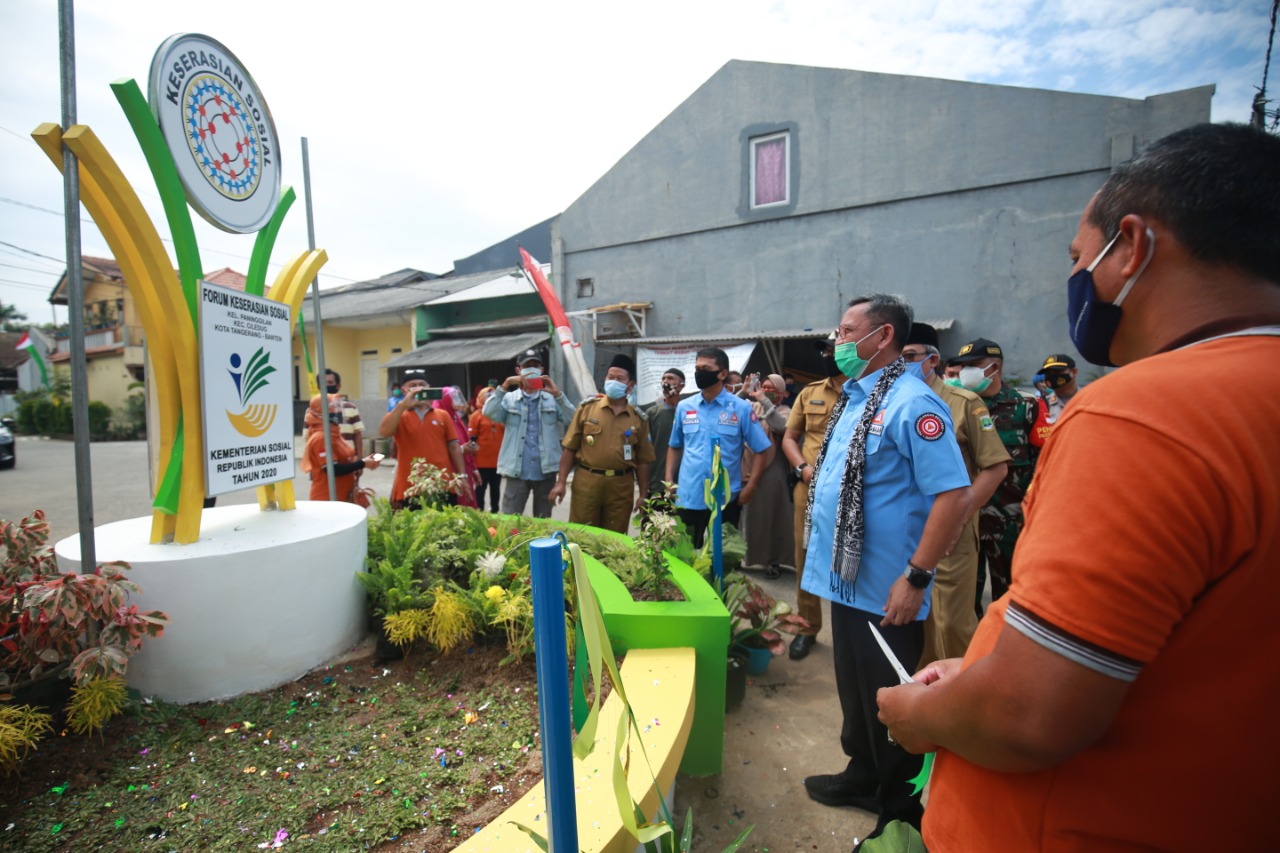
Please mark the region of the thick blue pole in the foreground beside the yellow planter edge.
<svg viewBox="0 0 1280 853"><path fill-rule="evenodd" d="M534 656L538 665L538 716L543 729L543 793L550 853L577 852L573 802L573 742L564 646L564 557L559 539L529 544L534 585Z"/></svg>

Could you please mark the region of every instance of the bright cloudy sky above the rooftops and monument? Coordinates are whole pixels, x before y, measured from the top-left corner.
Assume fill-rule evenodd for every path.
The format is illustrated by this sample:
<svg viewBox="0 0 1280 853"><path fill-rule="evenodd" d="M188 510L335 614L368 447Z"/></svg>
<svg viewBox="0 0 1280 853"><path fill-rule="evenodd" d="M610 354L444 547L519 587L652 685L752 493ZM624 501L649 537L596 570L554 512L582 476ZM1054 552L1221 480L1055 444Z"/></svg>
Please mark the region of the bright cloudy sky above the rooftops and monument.
<svg viewBox="0 0 1280 853"><path fill-rule="evenodd" d="M133 77L146 91L152 54L173 33L221 41L262 90L284 182L300 196L300 140L308 140L316 242L330 257L324 287L406 266L444 273L454 259L559 213L731 59L1138 99L1213 83L1213 120L1247 120L1270 8L1268 0L82 0L78 120L105 141L163 223L108 86ZM1280 69L1271 81L1280 92ZM28 134L59 117L58 4L3 0L0 302L36 321L50 319L65 243L61 178ZM82 219L83 252L108 254ZM198 218L196 227L206 270L247 270L251 236ZM305 247L300 197L274 260Z"/></svg>

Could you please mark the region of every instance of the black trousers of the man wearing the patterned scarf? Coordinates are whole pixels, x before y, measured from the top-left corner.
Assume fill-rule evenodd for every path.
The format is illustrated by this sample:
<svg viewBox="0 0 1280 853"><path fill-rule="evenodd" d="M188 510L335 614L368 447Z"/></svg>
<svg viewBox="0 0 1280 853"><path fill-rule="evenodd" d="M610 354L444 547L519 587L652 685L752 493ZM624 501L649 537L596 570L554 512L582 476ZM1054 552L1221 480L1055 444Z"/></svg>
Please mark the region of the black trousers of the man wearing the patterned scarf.
<svg viewBox="0 0 1280 853"><path fill-rule="evenodd" d="M879 790L881 813L919 826L920 795L908 780L920 772L923 756L913 756L888 742L888 729L877 716L876 692L899 684L868 624L876 625L908 672L924 651L924 622L884 625L883 613L868 613L831 602L831 644L836 660L836 692L844 724L840 745L849 756L847 774L854 785Z"/></svg>

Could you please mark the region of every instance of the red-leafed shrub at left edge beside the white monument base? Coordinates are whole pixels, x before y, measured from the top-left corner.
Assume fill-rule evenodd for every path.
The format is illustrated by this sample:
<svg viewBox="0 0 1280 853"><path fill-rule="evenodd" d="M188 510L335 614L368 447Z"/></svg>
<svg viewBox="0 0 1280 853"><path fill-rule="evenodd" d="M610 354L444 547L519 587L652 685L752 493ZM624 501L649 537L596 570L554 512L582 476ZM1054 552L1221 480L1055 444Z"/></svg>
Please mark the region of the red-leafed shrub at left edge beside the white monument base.
<svg viewBox="0 0 1280 853"><path fill-rule="evenodd" d="M18 524L0 521L0 688L67 667L81 685L123 676L143 638L160 637L169 622L128 603L138 592L123 574L128 564L59 573L41 510Z"/></svg>

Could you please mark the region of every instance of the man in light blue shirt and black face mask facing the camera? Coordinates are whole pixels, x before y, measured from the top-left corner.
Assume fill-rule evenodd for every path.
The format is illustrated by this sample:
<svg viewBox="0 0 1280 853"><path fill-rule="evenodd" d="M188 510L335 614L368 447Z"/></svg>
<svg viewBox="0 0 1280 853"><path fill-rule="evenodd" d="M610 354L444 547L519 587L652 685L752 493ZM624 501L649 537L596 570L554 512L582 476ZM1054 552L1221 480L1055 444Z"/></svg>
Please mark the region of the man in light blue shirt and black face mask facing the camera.
<svg viewBox="0 0 1280 853"><path fill-rule="evenodd" d="M689 528L695 548L703 547L703 537L710 523L707 480L712 476L716 447L719 447L721 464L728 473L730 485L730 501L722 517L732 525L739 524L742 507L751 502L764 473L764 451L772 447L751 403L724 391L727 375L728 356L723 350L708 347L698 352L694 360L694 383L701 393L676 405L675 423L667 442L667 482L676 483L676 511ZM755 453L745 487L744 446Z"/></svg>

